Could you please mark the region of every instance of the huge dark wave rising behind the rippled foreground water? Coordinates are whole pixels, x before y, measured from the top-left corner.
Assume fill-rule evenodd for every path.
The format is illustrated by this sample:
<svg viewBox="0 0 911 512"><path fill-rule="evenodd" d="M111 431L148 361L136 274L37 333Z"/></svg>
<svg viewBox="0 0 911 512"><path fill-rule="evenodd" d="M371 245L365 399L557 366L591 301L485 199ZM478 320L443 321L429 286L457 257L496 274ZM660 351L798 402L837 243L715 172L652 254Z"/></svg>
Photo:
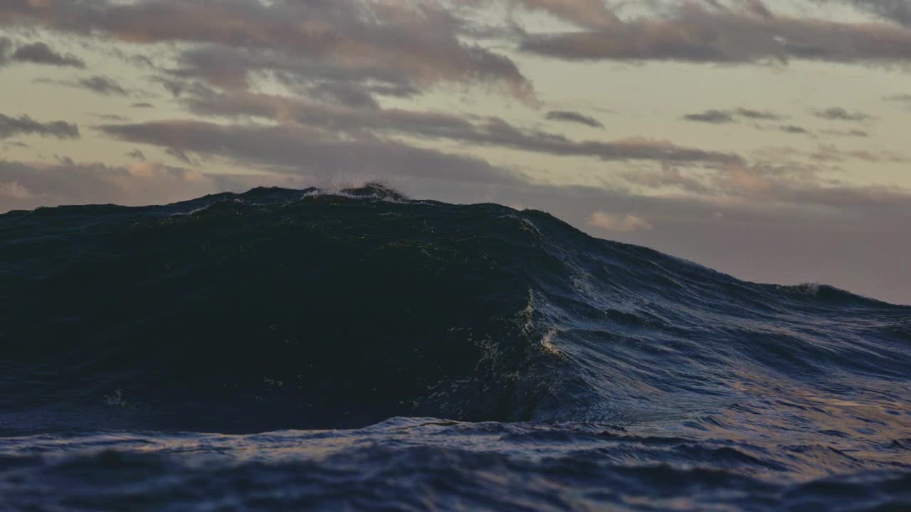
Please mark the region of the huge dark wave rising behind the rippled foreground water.
<svg viewBox="0 0 911 512"><path fill-rule="evenodd" d="M796 411L845 394L885 407L911 367L911 308L381 185L14 212L0 240L0 355L30 383L5 399L12 431L630 421L757 401L793 403L777 421L799 431Z"/></svg>

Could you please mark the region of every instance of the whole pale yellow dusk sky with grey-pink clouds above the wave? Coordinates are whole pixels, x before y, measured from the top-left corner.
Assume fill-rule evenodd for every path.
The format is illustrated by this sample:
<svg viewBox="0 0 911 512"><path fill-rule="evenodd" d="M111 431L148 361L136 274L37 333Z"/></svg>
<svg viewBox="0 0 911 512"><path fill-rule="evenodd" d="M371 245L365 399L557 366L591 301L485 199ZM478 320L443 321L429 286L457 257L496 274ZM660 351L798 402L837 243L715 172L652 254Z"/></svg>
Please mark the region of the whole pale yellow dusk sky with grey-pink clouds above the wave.
<svg viewBox="0 0 911 512"><path fill-rule="evenodd" d="M911 0L4 0L0 212L382 180L911 304Z"/></svg>

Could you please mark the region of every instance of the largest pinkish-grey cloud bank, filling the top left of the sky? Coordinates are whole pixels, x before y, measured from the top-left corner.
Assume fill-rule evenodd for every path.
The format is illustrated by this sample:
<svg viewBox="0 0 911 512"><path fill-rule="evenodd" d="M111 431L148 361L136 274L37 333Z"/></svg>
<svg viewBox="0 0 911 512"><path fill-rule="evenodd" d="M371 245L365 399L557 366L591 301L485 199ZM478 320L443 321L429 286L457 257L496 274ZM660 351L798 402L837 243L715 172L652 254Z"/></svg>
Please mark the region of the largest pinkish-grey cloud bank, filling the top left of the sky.
<svg viewBox="0 0 911 512"><path fill-rule="evenodd" d="M194 49L183 58L187 72L219 87L242 87L256 69L283 68L305 76L308 69L329 67L387 70L415 87L482 84L523 100L534 97L515 63L463 42L466 21L435 2L15 0L0 5L0 24L220 50L200 54ZM219 59L210 58L215 55Z"/></svg>

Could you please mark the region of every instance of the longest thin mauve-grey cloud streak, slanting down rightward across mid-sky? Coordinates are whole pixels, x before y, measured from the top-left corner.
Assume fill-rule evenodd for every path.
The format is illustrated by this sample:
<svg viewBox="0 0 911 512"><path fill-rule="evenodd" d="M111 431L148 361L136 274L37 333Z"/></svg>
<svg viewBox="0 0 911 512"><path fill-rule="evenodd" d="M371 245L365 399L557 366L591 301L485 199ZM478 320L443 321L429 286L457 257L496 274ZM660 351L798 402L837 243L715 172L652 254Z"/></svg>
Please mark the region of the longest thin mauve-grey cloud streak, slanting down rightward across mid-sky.
<svg viewBox="0 0 911 512"><path fill-rule="evenodd" d="M395 132L416 138L448 138L485 146L603 160L728 162L738 159L731 154L685 148L647 138L577 142L557 134L519 129L500 118L486 118L484 122L472 123L448 114L344 108L251 93L191 98L187 105L200 115L293 121L313 128L347 132L354 137L363 137L373 131Z"/></svg>

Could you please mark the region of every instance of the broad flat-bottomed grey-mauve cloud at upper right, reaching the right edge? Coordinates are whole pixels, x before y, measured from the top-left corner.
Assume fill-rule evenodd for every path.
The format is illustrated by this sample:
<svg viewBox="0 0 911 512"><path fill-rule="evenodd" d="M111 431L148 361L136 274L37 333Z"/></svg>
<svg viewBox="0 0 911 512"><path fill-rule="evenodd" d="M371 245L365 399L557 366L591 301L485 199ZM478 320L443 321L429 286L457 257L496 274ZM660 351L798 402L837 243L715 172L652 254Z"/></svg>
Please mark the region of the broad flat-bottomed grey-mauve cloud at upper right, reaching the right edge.
<svg viewBox="0 0 911 512"><path fill-rule="evenodd" d="M742 5L679 2L660 14L599 29L527 35L521 49L573 60L750 64L792 58L846 63L911 59L911 30L903 26L776 15L756 1Z"/></svg>

